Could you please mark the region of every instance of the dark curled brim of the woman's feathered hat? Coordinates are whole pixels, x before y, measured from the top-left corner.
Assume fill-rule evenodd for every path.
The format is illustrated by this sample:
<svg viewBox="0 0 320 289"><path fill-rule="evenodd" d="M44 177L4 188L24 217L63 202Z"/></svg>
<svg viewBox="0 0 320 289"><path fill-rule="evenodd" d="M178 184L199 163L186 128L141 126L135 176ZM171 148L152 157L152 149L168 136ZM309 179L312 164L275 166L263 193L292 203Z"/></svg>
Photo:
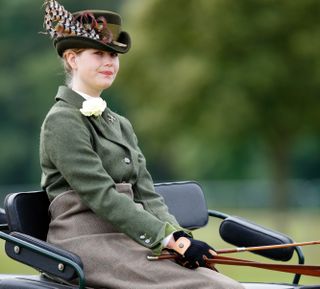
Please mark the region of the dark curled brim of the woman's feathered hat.
<svg viewBox="0 0 320 289"><path fill-rule="evenodd" d="M99 40L94 40L83 36L65 36L55 39L54 46L56 47L60 56L63 55L65 50L72 48L93 48L121 54L129 51L131 47L131 39L127 32L122 31L117 39L117 42L120 43L120 45L116 45L114 43L104 44ZM121 46L121 44L124 44L125 46Z"/></svg>

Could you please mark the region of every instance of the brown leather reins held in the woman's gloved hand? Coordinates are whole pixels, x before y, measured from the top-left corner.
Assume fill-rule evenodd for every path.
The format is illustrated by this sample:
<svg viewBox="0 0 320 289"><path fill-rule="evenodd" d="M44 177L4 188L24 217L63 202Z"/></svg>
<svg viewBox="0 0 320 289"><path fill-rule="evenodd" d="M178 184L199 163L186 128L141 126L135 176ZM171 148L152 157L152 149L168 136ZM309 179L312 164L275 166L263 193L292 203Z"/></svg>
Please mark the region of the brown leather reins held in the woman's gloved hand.
<svg viewBox="0 0 320 289"><path fill-rule="evenodd" d="M206 262L208 267L214 269L214 264L223 264L223 265L234 265L234 266L249 266L255 268L261 268L266 270L274 270L287 273L295 273L308 276L320 276L320 266L317 265L287 265L287 264L272 264L272 263L261 263L245 259L231 258L219 256L219 254L226 253L236 253L236 252L252 252L258 250L269 250L269 249L280 249L296 246L307 246L307 245L316 245L320 244L320 241L311 241L303 243L291 243L283 245L268 245L268 246L256 246L256 247L240 247L235 249L222 249L216 251L217 255L211 259L207 259ZM160 256L148 256L148 260L163 260L163 259L176 259L178 256L176 254L162 254Z"/></svg>

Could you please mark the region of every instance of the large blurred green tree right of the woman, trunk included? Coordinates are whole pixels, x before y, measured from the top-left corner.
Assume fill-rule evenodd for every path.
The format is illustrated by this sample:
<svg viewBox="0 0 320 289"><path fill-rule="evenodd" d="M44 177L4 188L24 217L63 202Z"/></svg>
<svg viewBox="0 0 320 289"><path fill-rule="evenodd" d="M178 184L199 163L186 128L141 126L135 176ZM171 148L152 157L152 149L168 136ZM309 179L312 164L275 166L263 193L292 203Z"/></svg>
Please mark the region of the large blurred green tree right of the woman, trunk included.
<svg viewBox="0 0 320 289"><path fill-rule="evenodd" d="M177 177L215 178L232 177L226 156L248 176L263 151L283 208L292 146L319 132L320 1L126 3L120 86L147 153Z"/></svg>

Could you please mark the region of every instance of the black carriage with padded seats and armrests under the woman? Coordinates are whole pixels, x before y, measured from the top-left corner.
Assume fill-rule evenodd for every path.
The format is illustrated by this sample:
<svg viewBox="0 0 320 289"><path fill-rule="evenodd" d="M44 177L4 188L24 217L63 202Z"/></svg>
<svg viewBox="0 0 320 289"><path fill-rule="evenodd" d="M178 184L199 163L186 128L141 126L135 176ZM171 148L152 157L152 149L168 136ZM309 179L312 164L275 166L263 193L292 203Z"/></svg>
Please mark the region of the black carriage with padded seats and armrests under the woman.
<svg viewBox="0 0 320 289"><path fill-rule="evenodd" d="M279 232L262 227L246 219L210 210L199 183L194 181L155 184L182 227L196 230L204 227L209 218L221 220L221 238L238 247L292 244L293 240ZM45 191L28 191L7 194L4 209L0 210L0 238L5 241L6 254L39 271L36 275L1 274L0 289L84 289L85 274L81 259L66 250L46 242L48 232L49 200ZM304 263L300 246L258 250L254 253L274 261L289 261L297 255ZM160 261L159 261L160 262ZM247 289L320 289L319 285L300 285L299 274L290 283L242 283ZM77 280L77 282L72 282ZM132 288L128 288L132 289ZM164 288L165 289L165 288ZM198 289L198 288L195 288Z"/></svg>

